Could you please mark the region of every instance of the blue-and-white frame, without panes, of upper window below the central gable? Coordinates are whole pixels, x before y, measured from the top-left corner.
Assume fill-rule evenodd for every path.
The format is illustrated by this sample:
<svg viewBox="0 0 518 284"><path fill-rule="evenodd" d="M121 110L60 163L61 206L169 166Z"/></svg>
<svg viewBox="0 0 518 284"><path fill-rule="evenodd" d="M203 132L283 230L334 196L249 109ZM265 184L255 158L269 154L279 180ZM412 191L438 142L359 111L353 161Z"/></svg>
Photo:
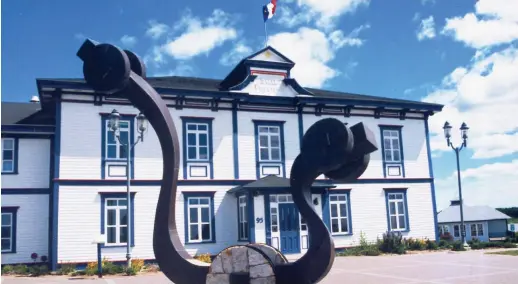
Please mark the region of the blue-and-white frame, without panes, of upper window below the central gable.
<svg viewBox="0 0 518 284"><path fill-rule="evenodd" d="M284 136L284 124L285 121L275 121L275 120L252 120L254 123L254 140L255 140L255 162L256 162L256 178L260 179L268 174L263 175L263 167L265 168L278 168L279 176L286 176L286 147L285 147L285 136ZM263 160L261 158L261 146L260 146L260 128L262 127L275 127L279 129L279 158L278 160ZM270 135L268 133L268 145L271 144L271 137L275 135ZM263 147L264 148L264 147ZM268 149L268 157L271 157L271 147Z"/></svg>

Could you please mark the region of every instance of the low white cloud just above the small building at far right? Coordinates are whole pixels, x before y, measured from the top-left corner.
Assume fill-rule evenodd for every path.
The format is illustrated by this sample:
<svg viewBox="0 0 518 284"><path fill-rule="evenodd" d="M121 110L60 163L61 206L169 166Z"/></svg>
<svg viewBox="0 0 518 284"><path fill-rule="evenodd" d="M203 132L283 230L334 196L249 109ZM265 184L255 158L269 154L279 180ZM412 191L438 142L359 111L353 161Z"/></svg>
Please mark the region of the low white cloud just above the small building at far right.
<svg viewBox="0 0 518 284"><path fill-rule="evenodd" d="M516 173L518 173L518 159L461 171L462 198L465 204L491 207L516 206L518 201ZM457 171L445 179L436 180L435 185L438 210L448 207L450 200L458 199Z"/></svg>

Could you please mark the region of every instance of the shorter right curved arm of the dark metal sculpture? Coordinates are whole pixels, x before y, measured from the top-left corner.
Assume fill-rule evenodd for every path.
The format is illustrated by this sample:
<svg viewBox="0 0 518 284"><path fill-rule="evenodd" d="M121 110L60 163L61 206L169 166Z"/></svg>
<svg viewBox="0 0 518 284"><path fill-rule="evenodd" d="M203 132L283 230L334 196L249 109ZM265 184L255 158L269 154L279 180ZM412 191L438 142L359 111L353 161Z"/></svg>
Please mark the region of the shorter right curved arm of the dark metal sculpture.
<svg viewBox="0 0 518 284"><path fill-rule="evenodd" d="M321 174L342 181L357 179L376 150L374 136L362 123L348 128L328 118L308 129L293 163L290 183L293 201L308 225L309 249L296 262L276 267L278 283L317 283L327 275L334 263L334 243L313 208L311 186Z"/></svg>

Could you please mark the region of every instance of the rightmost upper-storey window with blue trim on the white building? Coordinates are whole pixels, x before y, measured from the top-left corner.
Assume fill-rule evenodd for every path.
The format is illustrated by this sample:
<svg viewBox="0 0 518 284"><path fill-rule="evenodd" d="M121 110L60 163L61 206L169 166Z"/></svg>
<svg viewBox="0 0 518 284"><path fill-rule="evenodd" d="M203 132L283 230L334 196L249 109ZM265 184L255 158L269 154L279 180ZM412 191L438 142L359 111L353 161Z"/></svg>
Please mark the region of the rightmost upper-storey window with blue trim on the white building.
<svg viewBox="0 0 518 284"><path fill-rule="evenodd" d="M402 127L380 125L384 177L405 177Z"/></svg>

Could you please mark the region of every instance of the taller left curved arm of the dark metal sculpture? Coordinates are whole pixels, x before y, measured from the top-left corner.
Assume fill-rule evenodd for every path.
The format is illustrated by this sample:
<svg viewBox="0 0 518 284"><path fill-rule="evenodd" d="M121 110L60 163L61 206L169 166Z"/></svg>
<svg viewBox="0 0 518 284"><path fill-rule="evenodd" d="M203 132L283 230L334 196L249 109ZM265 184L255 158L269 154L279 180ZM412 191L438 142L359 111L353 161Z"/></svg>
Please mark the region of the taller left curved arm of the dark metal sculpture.
<svg viewBox="0 0 518 284"><path fill-rule="evenodd" d="M198 266L188 259L178 237L174 212L179 169L179 142L169 109L160 95L139 74L143 64L129 51L87 40L78 51L83 59L83 73L93 89L117 93L129 99L148 119L162 148L163 175L155 214L153 249L163 273L177 284L204 284L208 266Z"/></svg>

